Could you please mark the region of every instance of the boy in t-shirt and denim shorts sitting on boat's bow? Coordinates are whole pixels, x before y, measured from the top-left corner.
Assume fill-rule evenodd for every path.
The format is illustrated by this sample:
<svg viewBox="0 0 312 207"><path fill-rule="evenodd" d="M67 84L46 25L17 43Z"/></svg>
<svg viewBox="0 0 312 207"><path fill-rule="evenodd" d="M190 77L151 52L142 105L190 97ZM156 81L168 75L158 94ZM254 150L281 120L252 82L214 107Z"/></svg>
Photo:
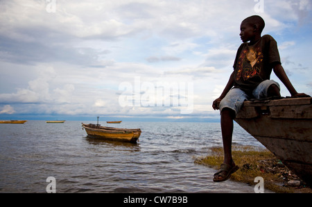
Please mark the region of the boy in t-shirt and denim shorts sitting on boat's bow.
<svg viewBox="0 0 312 207"><path fill-rule="evenodd" d="M220 109L220 122L223 137L224 160L220 170L214 174L214 181L226 181L239 167L232 158L233 120L245 100L255 98L281 96L279 83L270 80L272 70L284 83L291 97L309 97L297 93L281 66L277 42L270 35L261 32L265 23L257 15L248 17L241 22L241 40L234 61L234 72L222 94L216 99L212 108ZM233 87L234 86L234 87ZM218 106L218 103L220 105Z"/></svg>

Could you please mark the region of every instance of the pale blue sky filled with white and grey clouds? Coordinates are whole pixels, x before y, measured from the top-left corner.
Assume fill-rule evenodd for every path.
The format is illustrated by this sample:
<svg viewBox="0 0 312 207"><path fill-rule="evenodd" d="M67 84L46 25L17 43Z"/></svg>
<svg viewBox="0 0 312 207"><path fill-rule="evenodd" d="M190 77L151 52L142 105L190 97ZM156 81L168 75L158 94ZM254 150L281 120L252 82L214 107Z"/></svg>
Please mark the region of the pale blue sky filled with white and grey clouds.
<svg viewBox="0 0 312 207"><path fill-rule="evenodd" d="M0 119L218 118L211 104L250 15L265 20L296 90L312 94L311 9L310 0L1 0Z"/></svg>

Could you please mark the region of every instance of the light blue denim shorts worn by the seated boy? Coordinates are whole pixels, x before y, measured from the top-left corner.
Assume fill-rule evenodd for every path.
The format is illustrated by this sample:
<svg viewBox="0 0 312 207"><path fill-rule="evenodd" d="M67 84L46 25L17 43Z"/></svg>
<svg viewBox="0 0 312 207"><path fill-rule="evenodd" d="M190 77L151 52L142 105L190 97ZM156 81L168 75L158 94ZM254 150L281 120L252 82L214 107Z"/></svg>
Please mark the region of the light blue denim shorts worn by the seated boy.
<svg viewBox="0 0 312 207"><path fill-rule="evenodd" d="M268 88L270 85L275 84L277 87L279 87L279 83L273 81L273 80L266 80L261 82L257 88L255 88L252 91L252 96L249 97L248 94L243 92L243 90L239 88L232 88L227 92L226 96L222 99L220 102L220 112L223 110L223 108L231 108L232 110L235 111L235 114L239 113L239 110L241 110L241 106L243 106L243 103L245 100L248 99L263 99L268 97Z"/></svg>

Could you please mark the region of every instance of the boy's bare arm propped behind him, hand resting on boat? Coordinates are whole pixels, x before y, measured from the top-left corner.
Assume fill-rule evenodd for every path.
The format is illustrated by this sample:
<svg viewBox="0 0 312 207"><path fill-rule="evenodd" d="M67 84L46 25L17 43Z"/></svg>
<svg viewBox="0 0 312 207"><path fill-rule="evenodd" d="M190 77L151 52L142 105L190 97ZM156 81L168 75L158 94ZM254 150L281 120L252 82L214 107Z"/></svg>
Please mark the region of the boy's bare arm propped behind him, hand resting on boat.
<svg viewBox="0 0 312 207"><path fill-rule="evenodd" d="M273 67L273 71L276 74L276 76L281 80L282 83L286 86L288 91L291 93L291 97L310 97L307 94L304 93L298 93L295 88L293 87L293 84L291 84L291 81L289 81L288 76L285 73L285 70L283 66L280 64L277 64Z"/></svg>

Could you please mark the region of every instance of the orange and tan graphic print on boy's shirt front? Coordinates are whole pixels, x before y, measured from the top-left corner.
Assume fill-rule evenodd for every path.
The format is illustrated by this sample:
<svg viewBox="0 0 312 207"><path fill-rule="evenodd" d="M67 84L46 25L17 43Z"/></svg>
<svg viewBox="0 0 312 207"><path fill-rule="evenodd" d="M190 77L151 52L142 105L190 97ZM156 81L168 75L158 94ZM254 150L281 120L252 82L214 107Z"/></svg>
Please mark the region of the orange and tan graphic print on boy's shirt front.
<svg viewBox="0 0 312 207"><path fill-rule="evenodd" d="M261 63L263 60L263 54L261 53L260 47L249 49L243 49L241 56L239 56L238 71L236 74L236 81L243 78L246 81L254 76L259 76L261 72Z"/></svg>

